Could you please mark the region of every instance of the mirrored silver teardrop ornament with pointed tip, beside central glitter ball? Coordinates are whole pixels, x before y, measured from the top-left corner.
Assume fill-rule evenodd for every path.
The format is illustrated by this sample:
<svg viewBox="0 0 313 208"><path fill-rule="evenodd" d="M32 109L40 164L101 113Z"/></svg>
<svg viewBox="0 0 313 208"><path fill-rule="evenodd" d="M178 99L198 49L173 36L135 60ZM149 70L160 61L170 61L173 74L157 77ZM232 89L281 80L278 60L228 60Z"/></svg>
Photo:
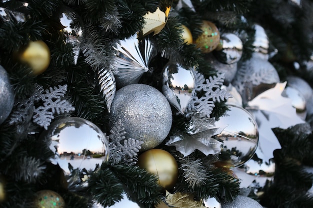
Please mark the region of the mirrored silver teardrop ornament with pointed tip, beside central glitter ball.
<svg viewBox="0 0 313 208"><path fill-rule="evenodd" d="M191 100L194 88L194 77L191 69L185 69L177 64L169 64L163 71L163 95L168 102L181 114Z"/></svg>

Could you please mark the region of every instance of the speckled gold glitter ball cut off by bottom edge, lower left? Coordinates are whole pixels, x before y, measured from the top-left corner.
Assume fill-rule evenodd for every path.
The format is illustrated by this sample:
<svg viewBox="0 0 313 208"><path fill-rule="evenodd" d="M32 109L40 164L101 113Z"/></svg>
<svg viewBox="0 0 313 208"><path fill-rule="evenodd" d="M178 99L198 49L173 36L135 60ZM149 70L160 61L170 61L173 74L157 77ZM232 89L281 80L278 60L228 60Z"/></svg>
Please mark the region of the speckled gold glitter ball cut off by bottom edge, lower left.
<svg viewBox="0 0 313 208"><path fill-rule="evenodd" d="M64 208L63 198L56 192L41 190L36 193L34 208Z"/></svg>

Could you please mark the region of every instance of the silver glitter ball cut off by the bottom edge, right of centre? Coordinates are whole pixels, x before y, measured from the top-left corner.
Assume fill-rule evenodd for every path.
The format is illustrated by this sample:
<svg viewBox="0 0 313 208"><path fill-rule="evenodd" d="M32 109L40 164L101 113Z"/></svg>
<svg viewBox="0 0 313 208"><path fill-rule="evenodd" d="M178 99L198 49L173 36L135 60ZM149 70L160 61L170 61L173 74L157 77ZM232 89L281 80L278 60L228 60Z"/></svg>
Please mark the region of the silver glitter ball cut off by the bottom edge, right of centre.
<svg viewBox="0 0 313 208"><path fill-rule="evenodd" d="M263 208L255 200L249 197L241 196L241 195L238 195L232 202L222 204L221 207L222 208Z"/></svg>

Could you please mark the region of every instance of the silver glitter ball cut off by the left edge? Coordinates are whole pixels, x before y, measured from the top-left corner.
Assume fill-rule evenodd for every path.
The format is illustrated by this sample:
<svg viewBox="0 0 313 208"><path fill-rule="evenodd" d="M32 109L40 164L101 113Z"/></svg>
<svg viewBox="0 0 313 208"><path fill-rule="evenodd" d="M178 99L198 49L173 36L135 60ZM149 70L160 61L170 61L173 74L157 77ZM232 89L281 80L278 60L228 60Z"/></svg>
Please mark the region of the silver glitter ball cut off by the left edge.
<svg viewBox="0 0 313 208"><path fill-rule="evenodd" d="M0 66L0 124L10 114L14 104L14 92L10 85L8 74Z"/></svg>

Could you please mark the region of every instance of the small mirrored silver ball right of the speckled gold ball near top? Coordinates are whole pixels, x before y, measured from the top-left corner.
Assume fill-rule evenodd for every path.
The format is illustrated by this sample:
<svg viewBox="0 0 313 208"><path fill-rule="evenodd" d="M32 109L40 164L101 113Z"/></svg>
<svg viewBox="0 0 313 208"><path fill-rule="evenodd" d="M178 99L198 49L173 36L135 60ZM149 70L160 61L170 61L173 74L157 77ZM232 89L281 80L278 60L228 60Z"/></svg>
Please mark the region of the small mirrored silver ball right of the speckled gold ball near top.
<svg viewBox="0 0 313 208"><path fill-rule="evenodd" d="M220 39L221 49L215 49L213 51L216 59L224 64L232 64L239 61L242 55L242 42L240 38L232 33L224 33Z"/></svg>

